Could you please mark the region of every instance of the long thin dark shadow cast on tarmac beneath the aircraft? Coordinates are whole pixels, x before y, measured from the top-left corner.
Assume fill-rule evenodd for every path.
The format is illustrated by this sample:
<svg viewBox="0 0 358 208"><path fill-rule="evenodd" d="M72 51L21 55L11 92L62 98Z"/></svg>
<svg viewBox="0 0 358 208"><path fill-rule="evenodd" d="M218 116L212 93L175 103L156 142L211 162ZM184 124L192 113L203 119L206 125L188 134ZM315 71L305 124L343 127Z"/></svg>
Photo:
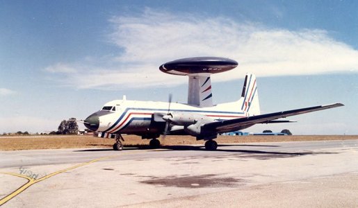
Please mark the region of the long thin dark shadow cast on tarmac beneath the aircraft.
<svg viewBox="0 0 358 208"><path fill-rule="evenodd" d="M240 157L257 157L257 159L270 159L277 157L300 157L304 155L322 155L322 154L337 154L331 152L311 152L311 151L296 151L296 152L279 152L279 151L265 151L265 150L243 150L243 149L220 149L220 146L252 146L252 147L279 147L279 146L268 146L268 145L249 145L249 144L219 144L218 149L211 151L215 152L227 152L227 153L242 153L245 155L240 155ZM198 150L198 151L208 151L205 150L204 146L190 146L190 145L163 145L160 148L160 151L171 151L171 150ZM125 150L153 150L149 145L127 145L124 146ZM101 149L86 149L86 150L75 150L76 152L96 152L96 151L113 151L112 148L101 148ZM247 155L250 154L250 155Z"/></svg>

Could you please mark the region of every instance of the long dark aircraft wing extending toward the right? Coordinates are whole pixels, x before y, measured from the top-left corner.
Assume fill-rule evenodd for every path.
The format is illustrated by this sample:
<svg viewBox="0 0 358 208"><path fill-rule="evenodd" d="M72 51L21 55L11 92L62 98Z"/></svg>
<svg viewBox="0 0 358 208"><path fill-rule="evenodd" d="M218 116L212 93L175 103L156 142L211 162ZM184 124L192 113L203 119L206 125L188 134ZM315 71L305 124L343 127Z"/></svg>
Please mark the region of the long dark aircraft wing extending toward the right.
<svg viewBox="0 0 358 208"><path fill-rule="evenodd" d="M258 116L249 116L241 119L230 119L225 121L215 121L211 123L205 123L202 125L202 130L207 130L209 132L232 132L236 130L241 130L243 128L248 128L255 123L277 123L272 120L286 118L287 116L295 116L298 114L305 114L308 112L314 112L318 110L325 110L332 107L343 106L342 103L335 103L331 105L318 105L314 107L305 107L295 110L287 110L283 112L274 112L270 114L261 114Z"/></svg>

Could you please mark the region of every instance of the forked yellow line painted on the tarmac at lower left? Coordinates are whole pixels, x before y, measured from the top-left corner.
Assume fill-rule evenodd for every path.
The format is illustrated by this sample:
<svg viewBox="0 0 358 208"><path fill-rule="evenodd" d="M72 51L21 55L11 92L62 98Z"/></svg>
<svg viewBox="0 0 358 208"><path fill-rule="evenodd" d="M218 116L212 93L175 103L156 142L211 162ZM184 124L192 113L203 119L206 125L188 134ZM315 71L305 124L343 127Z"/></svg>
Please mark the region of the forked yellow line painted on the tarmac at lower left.
<svg viewBox="0 0 358 208"><path fill-rule="evenodd" d="M134 153L124 153L124 154L121 154L121 155L131 155L131 154L134 154ZM4 198L1 198L0 199L0 206L5 204L6 202L8 202L9 200L11 200L12 198L14 198L15 196L19 195L19 193L22 193L22 191L25 191L27 188L31 187L33 184L35 183L38 183L38 182L41 182L42 180L46 180L48 179L49 177L52 177L54 175L58 175L60 173L63 173L63 172L66 172L66 171L70 171L74 168L79 168L81 166L86 166L88 164L91 164L91 163L94 163L94 162L98 162L100 160L104 160L104 159L109 159L109 158L112 158L112 157L118 157L118 156L121 156L121 155L111 155L111 156L107 156L107 157L100 157L98 159L93 159L91 160L90 162L85 162L85 163L82 163L82 164L78 164L76 166L72 166L70 168L65 168L63 170L60 170L60 171L56 171L54 173L50 173L49 175L45 175L44 177L40 177L39 179L33 179L32 177L28 177L26 175L21 175L21 174L18 174L18 173L1 173L1 174L6 174L6 175L13 175L13 176L17 176L17 177L23 177L25 179L28 180L28 182L26 182L26 184L22 185L22 187L19 187L18 189L16 189L15 191L13 191L13 193L10 193L8 194L8 196L4 197Z"/></svg>

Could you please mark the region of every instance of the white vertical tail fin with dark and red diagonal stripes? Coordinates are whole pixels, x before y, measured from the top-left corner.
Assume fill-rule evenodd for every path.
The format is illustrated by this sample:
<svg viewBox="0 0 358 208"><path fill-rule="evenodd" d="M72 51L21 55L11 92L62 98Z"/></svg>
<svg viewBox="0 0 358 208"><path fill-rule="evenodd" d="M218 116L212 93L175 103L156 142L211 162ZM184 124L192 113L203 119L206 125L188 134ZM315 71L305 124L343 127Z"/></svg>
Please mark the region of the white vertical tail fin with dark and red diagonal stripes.
<svg viewBox="0 0 358 208"><path fill-rule="evenodd" d="M256 76L252 73L246 74L240 100L242 101L241 110L248 112L250 116L260 114Z"/></svg>

